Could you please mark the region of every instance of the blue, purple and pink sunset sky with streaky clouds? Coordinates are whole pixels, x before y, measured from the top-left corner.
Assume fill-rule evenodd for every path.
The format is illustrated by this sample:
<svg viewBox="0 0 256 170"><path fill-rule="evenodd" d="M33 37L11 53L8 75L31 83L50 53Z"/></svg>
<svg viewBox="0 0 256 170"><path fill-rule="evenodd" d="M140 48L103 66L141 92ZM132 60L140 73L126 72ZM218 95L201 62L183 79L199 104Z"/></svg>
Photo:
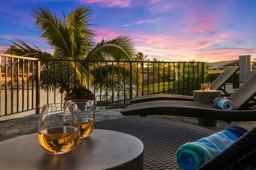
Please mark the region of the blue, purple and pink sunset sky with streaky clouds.
<svg viewBox="0 0 256 170"><path fill-rule="evenodd" d="M21 39L52 53L34 25L33 8L44 6L63 18L81 5L92 9L96 42L130 36L136 53L164 61L227 61L256 58L255 0L2 0L0 53Z"/></svg>

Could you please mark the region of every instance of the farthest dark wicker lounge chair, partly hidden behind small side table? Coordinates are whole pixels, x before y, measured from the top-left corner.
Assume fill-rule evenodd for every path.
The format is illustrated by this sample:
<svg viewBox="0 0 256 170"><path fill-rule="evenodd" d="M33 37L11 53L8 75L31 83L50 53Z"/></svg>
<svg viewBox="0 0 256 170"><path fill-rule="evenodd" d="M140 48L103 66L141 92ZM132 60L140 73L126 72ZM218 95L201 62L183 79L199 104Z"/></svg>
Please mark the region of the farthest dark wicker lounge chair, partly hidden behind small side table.
<svg viewBox="0 0 256 170"><path fill-rule="evenodd" d="M240 69L238 66L230 67L223 71L213 82L210 84L211 90L221 90L225 94L228 94L221 87ZM229 95L229 94L228 94ZM154 94L134 97L130 100L131 104L141 103L145 101L155 101L155 100L183 100L183 101L193 101L193 96L185 95L172 95L172 94Z"/></svg>

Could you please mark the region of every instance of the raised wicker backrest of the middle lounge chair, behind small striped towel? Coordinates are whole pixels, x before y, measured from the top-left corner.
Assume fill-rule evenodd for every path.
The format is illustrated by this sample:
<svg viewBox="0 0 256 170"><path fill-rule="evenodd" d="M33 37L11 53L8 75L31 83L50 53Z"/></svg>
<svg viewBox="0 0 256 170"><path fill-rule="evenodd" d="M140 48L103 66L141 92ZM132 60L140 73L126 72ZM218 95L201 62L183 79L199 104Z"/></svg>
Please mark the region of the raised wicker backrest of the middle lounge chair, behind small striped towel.
<svg viewBox="0 0 256 170"><path fill-rule="evenodd" d="M233 101L234 108L236 110L242 110L247 107L249 101L256 96L256 72L240 86L232 95L228 97L228 100ZM242 113L241 113L242 114Z"/></svg>

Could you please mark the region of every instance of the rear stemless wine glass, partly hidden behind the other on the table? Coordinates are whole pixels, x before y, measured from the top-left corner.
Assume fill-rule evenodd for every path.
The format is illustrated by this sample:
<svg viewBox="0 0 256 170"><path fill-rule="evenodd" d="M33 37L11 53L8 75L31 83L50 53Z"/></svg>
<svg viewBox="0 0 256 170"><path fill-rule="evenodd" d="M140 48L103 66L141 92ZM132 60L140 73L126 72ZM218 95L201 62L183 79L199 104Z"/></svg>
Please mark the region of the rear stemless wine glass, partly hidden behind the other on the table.
<svg viewBox="0 0 256 170"><path fill-rule="evenodd" d="M77 104L80 124L80 138L92 133L95 123L93 100L68 100L67 103Z"/></svg>

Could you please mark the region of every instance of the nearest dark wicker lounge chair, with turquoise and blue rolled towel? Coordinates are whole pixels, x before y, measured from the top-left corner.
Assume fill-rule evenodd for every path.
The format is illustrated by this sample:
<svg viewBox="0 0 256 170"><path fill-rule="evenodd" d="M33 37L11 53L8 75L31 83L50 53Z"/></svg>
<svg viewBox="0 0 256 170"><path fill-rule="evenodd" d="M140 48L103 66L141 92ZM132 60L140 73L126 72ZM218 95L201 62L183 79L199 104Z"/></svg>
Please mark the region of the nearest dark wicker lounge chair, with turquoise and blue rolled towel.
<svg viewBox="0 0 256 170"><path fill-rule="evenodd" d="M96 122L94 128L120 131L140 139L144 145L145 170L179 169L175 153L181 145L216 133L214 130L168 118L139 116ZM239 166L246 165L247 161L250 162L247 156L253 154L255 148L256 128L243 135L234 145L218 154L201 169L226 169L233 164L238 169ZM240 161L242 159L243 162Z"/></svg>

